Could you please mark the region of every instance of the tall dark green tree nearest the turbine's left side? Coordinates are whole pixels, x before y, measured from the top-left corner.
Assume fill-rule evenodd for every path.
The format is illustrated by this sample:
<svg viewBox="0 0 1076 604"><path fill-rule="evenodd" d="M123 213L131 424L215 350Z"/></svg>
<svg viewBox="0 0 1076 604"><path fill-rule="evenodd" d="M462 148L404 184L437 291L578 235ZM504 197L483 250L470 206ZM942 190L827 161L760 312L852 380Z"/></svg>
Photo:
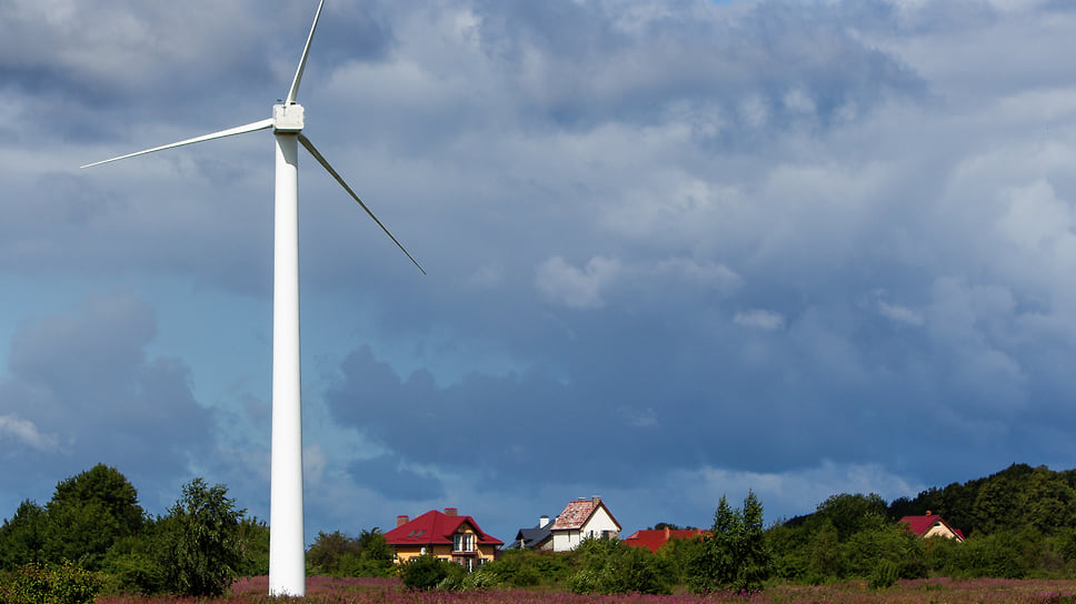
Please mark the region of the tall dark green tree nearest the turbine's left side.
<svg viewBox="0 0 1076 604"><path fill-rule="evenodd" d="M161 519L158 564L166 591L217 596L239 576L243 563L240 521L228 489L202 479L183 485L183 494Z"/></svg>

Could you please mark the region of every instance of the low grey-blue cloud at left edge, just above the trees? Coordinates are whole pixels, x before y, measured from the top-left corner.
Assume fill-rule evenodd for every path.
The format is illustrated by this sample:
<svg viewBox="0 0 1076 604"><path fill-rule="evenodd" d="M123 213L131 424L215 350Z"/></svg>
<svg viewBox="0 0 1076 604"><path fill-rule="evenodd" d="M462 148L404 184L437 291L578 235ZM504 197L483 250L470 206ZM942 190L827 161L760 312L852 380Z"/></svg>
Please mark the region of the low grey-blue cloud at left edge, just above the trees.
<svg viewBox="0 0 1076 604"><path fill-rule="evenodd" d="M152 310L126 294L23 323L0 383L9 426L0 454L23 467L23 490L96 463L119 466L137 486L171 487L190 457L212 446L189 369L147 356L155 333Z"/></svg>

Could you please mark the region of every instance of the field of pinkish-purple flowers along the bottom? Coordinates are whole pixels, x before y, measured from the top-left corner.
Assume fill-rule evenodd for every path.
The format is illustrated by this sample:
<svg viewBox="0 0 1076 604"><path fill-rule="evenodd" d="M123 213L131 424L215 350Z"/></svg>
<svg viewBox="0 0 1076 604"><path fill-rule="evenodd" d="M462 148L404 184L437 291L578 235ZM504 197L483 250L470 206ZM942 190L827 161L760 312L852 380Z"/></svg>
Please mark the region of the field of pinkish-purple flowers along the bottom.
<svg viewBox="0 0 1076 604"><path fill-rule="evenodd" d="M268 604L267 577L236 583L232 594L205 600L217 604ZM871 590L863 582L824 586L777 585L750 596L731 594L707 597L683 595L574 595L529 590L481 592L410 592L395 578L327 578L307 581L306 602L318 604L1076 604L1076 581L979 578L955 581L928 578L901 581L887 590ZM178 604L188 598L109 596L97 604Z"/></svg>

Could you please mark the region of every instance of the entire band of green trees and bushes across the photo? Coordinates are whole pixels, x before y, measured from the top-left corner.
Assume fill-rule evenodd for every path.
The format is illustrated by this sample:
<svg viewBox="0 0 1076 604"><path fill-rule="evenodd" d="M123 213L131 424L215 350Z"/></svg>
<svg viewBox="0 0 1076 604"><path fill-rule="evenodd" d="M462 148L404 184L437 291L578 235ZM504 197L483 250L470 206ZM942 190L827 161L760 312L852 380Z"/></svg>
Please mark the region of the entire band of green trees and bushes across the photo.
<svg viewBox="0 0 1076 604"><path fill-rule="evenodd" d="M924 540L899 522L928 511L963 531L966 541ZM245 513L225 486L196 479L165 515L151 516L138 504L133 485L99 464L58 483L47 504L24 501L4 520L0 602L6 602L4 585L19 581L53 581L70 593L223 593L236 577L268 571L269 528ZM377 528L356 537L321 533L307 552L307 572L398 575L421 588L544 584L577 593L756 591L774 581L849 578L885 587L899 578L939 575L1059 578L1076 573L1074 470L1014 464L913 499L887 503L877 494L840 493L808 515L768 527L761 519L763 503L754 493L743 507L721 497L708 535L672 540L657 553L616 540L588 540L561 554L505 552L469 575L434 558L393 566Z"/></svg>

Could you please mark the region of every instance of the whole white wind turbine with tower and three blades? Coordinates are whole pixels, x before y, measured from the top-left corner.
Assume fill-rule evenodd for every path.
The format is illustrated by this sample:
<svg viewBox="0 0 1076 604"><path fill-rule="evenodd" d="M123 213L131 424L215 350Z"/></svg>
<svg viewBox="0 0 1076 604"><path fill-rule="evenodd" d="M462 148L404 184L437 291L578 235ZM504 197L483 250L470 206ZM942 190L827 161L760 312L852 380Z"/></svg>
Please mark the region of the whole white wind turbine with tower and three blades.
<svg viewBox="0 0 1076 604"><path fill-rule="evenodd" d="M229 128L212 134L196 137L171 144L155 147L137 153L128 153L82 168L133 158L193 144L196 142L245 134L272 128L277 141L277 177L273 219L273 288L272 288L272 445L269 494L269 593L270 595L302 596L306 594L306 568L303 565L302 531L302 410L299 392L299 228L298 228L298 144L313 155L341 187L366 210L373 222L407 254L418 270L426 271L397 241L366 203L348 187L343 178L302 135L302 105L296 102L302 69L310 53L313 31L318 28L321 8L310 26L310 34L299 58L299 68L291 81L288 97L272 107L272 118L246 125Z"/></svg>

